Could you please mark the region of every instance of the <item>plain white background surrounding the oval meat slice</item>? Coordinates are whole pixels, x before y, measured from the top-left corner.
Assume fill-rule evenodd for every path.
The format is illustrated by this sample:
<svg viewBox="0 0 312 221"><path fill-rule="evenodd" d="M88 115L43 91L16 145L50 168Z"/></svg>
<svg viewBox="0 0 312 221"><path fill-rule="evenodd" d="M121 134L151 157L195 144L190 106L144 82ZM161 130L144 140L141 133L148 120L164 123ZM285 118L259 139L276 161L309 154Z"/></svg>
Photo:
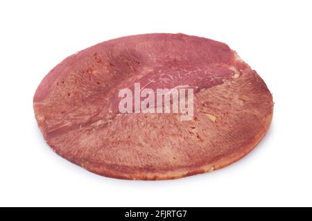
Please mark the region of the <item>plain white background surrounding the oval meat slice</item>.
<svg viewBox="0 0 312 221"><path fill-rule="evenodd" d="M0 1L0 206L312 206L311 1ZM44 142L40 81L107 39L185 33L229 44L273 94L270 131L241 161L162 182L100 177Z"/></svg>

